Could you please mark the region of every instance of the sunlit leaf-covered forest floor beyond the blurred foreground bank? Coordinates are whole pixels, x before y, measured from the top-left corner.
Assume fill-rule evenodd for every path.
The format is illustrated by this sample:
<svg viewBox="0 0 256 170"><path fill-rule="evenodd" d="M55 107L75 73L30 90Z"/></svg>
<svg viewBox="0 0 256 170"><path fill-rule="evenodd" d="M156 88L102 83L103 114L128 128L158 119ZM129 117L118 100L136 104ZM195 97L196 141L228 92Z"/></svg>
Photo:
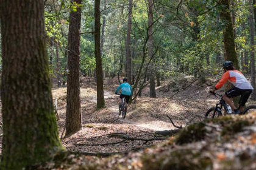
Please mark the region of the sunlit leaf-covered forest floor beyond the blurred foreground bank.
<svg viewBox="0 0 256 170"><path fill-rule="evenodd" d="M82 129L76 134L62 138L62 144L69 151L111 154L162 143L162 140L147 143L127 140L118 143L120 139L110 139L108 134L123 133L129 137L149 138L154 137L152 134L155 131L177 129L166 115L169 115L176 125L185 126L186 121L194 115L204 116L208 108L215 106L218 98L208 95L208 91L216 82L216 78L207 78L207 83L200 83L194 77L174 77L162 82L162 86L156 87L157 98L149 98L149 87L146 87L142 92L143 97L138 97L135 103L130 104L126 118L123 119L118 116L118 95L114 94L119 84L118 79L105 78L105 108L96 109L96 83L82 78L80 88ZM52 95L54 99L57 98L60 117L57 123L59 134L62 136L65 127L66 87L54 88ZM93 137L99 138L88 140Z"/></svg>

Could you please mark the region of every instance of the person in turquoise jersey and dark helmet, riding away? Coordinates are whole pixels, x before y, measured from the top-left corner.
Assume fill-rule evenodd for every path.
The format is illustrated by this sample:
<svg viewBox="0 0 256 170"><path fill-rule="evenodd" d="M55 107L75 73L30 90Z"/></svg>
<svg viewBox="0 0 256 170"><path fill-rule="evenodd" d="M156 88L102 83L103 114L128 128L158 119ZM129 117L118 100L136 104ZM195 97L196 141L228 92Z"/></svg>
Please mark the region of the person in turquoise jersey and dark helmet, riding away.
<svg viewBox="0 0 256 170"><path fill-rule="evenodd" d="M115 94L117 94L118 90L120 90L120 89L122 90L122 92L121 92L120 97L119 97L119 104L122 103L122 98L125 97L127 107L128 107L128 103L129 103L129 100L130 100L130 95L132 95L132 86L130 86L130 84L127 83L127 78L123 79L123 83L118 86L118 88L116 89Z"/></svg>

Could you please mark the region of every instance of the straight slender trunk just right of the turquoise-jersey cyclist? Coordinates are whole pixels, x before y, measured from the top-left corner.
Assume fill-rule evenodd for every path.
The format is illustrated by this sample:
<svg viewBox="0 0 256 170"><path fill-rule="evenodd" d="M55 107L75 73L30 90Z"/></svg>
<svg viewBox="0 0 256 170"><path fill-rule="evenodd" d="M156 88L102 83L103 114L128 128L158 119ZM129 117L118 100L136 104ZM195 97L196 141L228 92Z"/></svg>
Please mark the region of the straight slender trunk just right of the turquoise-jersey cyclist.
<svg viewBox="0 0 256 170"><path fill-rule="evenodd" d="M148 34L149 34L149 41L148 41L148 53L149 58L153 58L153 0L148 0L149 3L149 13L148 13ZM150 97L156 97L155 94L155 66L154 61L151 61L151 67L149 68L149 81L150 81Z"/></svg>

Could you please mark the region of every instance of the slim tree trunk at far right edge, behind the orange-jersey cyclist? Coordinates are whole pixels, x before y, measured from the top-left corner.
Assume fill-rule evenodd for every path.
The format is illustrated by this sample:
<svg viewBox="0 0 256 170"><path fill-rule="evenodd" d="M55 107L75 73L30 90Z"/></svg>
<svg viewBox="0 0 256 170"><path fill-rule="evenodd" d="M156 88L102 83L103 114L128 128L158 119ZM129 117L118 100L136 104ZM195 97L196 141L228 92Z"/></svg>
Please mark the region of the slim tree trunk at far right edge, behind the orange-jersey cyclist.
<svg viewBox="0 0 256 170"><path fill-rule="evenodd" d="M251 56L251 84L252 87L255 88L255 58L254 58L254 19L256 21L256 16L254 18L254 4L255 4L255 0L254 3L252 3L252 0L249 0L249 26L250 26L250 42L251 42L251 50L250 50L250 56ZM256 13L256 12L255 12ZM256 100L256 90L252 91L251 94L251 100Z"/></svg>

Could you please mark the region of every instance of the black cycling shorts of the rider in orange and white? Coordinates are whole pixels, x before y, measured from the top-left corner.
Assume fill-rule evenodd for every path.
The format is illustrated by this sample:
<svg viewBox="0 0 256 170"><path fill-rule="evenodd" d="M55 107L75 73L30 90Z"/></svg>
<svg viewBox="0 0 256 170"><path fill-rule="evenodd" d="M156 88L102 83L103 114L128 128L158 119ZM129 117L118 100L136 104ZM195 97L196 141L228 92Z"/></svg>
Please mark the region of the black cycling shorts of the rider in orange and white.
<svg viewBox="0 0 256 170"><path fill-rule="evenodd" d="M227 90L227 92L225 94L229 98L237 97L237 96L241 95L239 103L241 104L241 106L244 106L246 104L246 101L250 97L251 93L252 93L252 89L239 89L237 87L233 87L233 88Z"/></svg>

